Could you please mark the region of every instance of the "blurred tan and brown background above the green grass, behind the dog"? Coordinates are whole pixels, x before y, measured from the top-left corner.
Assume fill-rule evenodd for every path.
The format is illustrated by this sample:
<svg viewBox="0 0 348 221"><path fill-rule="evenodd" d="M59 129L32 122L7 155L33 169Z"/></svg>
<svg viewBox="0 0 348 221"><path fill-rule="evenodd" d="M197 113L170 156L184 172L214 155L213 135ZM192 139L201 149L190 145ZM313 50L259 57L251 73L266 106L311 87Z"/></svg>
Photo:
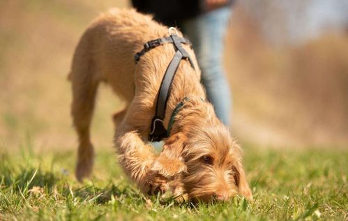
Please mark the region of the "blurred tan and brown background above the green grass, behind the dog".
<svg viewBox="0 0 348 221"><path fill-rule="evenodd" d="M129 1L0 1L0 148L76 148L67 75L77 42L99 13ZM348 148L348 1L243 0L233 7L225 66L232 133L281 148ZM97 149L112 146L123 103L103 86Z"/></svg>

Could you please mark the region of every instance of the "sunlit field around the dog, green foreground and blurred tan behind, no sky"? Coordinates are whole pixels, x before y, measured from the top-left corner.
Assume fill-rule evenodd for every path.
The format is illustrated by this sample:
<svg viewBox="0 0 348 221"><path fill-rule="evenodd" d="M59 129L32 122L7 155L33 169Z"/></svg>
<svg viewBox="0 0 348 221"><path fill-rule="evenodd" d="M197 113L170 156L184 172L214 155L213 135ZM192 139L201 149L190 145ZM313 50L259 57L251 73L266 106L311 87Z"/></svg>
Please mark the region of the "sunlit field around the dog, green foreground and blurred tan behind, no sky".
<svg viewBox="0 0 348 221"><path fill-rule="evenodd" d="M236 8L225 66L232 135L254 200L145 197L116 162L112 113L98 91L93 176L74 176L77 137L67 76L77 42L123 1L0 1L0 220L348 220L348 34L271 45Z"/></svg>

